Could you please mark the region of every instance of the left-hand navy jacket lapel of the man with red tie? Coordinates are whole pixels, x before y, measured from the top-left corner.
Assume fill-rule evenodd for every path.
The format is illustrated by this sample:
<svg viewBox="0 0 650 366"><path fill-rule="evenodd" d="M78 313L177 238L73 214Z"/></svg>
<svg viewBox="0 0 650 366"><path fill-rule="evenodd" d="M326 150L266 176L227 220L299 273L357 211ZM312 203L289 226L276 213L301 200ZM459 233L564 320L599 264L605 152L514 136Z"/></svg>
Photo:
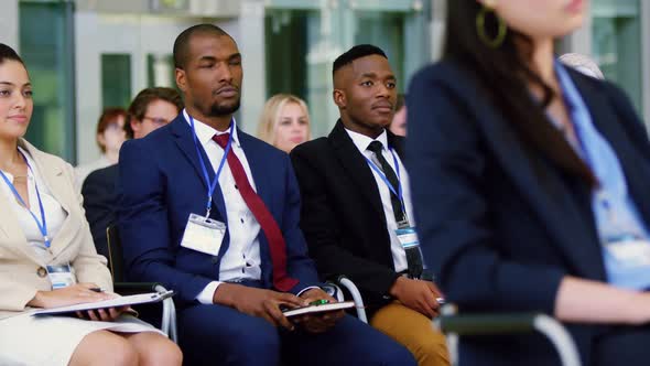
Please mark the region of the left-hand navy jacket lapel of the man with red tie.
<svg viewBox="0 0 650 366"><path fill-rule="evenodd" d="M178 117L176 117L176 119L174 119L172 121L172 123L170 125L170 128L172 130L172 133L174 134L175 138L175 143L178 147L178 149L183 152L183 155L185 157L185 159L187 159L189 161L189 163L192 164L192 166L194 166L194 172L196 173L196 179L198 179L201 181L201 184L203 186L203 192L201 193L202 196L205 196L205 193L207 193L208 186L205 182L205 177L203 175L203 169L201 166L201 161L198 160L198 157L196 154L196 147L194 144L194 138L192 137L192 128L189 127L189 125L187 123L187 121L185 120L185 117L183 117L183 114L180 114ZM210 183L213 182L213 180L215 179L215 171L213 170L213 166L209 162L209 159L207 158L207 154L205 153L205 150L203 149L203 147L198 147L198 151L203 157L203 161L206 164L206 170L207 170L207 175L208 179L210 181ZM224 203L224 194L221 192L221 187L219 186L219 184L217 184L215 186L215 192L213 192L213 207L216 207L220 214L220 217L224 222L227 222L227 214L226 214L226 204ZM197 214L203 214L203 213L197 213Z"/></svg>

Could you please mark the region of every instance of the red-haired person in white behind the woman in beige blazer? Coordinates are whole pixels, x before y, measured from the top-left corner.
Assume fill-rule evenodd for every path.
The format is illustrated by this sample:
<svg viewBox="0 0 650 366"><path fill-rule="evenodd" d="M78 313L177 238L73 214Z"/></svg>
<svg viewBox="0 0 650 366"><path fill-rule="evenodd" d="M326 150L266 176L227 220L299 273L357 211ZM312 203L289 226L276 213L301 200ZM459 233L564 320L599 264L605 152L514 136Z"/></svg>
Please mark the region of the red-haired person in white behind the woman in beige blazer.
<svg viewBox="0 0 650 366"><path fill-rule="evenodd" d="M75 168L75 184L82 189L86 176L91 172L117 164L120 148L124 142L124 120L127 111L123 108L107 108L99 117L97 123L97 146L101 150L101 157L96 161L79 164Z"/></svg>

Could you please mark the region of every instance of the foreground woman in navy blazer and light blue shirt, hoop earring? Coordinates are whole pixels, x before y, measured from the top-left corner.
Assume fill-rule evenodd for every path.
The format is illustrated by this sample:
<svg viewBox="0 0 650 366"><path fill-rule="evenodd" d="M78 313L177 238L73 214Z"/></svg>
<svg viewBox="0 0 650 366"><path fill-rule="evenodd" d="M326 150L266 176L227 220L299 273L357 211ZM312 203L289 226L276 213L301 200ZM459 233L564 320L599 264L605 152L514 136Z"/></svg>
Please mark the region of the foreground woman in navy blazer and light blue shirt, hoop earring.
<svg viewBox="0 0 650 366"><path fill-rule="evenodd" d="M650 144L614 85L561 66L583 1L447 2L409 90L424 258L462 312L544 312L585 365L650 359ZM555 365L540 335L462 337L462 365Z"/></svg>

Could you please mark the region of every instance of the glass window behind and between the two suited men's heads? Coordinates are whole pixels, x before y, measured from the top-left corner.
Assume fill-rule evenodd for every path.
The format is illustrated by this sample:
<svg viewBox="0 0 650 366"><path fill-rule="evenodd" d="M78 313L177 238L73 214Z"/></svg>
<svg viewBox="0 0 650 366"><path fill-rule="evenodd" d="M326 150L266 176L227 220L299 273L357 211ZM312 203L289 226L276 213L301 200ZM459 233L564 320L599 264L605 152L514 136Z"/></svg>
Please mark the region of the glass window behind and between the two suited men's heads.
<svg viewBox="0 0 650 366"><path fill-rule="evenodd" d="M342 0L332 6L323 1L268 1L267 97L292 93L305 99L312 136L326 136L339 115L332 100L332 63L361 43L375 44L387 53L399 90L404 92L411 75L431 60L425 25L427 3Z"/></svg>

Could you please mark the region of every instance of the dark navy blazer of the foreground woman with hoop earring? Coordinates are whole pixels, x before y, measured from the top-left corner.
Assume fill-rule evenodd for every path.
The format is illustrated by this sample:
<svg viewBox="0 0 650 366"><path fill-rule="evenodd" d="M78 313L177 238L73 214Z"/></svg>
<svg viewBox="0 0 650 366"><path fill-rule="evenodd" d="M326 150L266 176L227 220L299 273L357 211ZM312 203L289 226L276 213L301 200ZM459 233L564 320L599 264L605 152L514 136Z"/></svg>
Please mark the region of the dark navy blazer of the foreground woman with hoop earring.
<svg viewBox="0 0 650 366"><path fill-rule="evenodd" d="M650 144L625 95L570 69L650 224ZM526 148L473 74L445 61L409 92L407 166L424 258L463 312L552 314L564 276L605 281L591 190ZM550 121L549 121L550 123ZM606 326L568 325L585 364ZM554 365L541 336L463 337L463 364Z"/></svg>

